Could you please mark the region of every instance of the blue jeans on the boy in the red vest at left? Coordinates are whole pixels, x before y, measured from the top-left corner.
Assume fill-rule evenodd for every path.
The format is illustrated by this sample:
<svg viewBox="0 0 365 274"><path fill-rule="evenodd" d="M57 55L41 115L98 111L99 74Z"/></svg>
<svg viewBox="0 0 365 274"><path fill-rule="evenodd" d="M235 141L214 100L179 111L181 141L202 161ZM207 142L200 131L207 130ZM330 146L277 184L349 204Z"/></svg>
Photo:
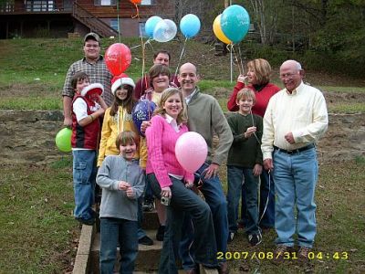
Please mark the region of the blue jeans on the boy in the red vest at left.
<svg viewBox="0 0 365 274"><path fill-rule="evenodd" d="M75 195L74 216L84 220L94 217L91 206L94 205L95 198L96 154L96 151L92 150L72 151Z"/></svg>

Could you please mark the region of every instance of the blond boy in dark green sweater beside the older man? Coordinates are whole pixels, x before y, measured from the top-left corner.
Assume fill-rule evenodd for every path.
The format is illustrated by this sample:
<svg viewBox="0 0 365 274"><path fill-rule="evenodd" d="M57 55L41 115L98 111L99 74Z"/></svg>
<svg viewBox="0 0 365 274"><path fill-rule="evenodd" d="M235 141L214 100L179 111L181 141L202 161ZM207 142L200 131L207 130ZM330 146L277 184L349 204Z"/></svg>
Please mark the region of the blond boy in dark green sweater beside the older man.
<svg viewBox="0 0 365 274"><path fill-rule="evenodd" d="M237 232L238 203L241 195L242 182L245 177L245 192L247 210L247 225L245 232L252 246L261 243L261 231L258 227L258 184L262 172L263 155L261 152L261 137L263 121L258 115L252 114L255 104L255 93L250 89L240 90L236 103L239 111L228 117L227 121L234 135L234 142L228 153L228 224L229 238L232 241Z"/></svg>

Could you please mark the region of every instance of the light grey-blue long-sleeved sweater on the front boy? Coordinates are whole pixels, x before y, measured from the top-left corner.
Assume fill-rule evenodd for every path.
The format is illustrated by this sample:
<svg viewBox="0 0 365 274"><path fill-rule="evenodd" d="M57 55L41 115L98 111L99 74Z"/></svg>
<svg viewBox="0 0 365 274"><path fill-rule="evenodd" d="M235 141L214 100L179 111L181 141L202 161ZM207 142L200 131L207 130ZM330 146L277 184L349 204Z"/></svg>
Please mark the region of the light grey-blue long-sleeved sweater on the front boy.
<svg viewBox="0 0 365 274"><path fill-rule="evenodd" d="M102 188L100 217L114 217L137 221L138 202L144 189L144 174L136 161L126 161L120 155L107 156L97 175L97 184ZM129 183L135 196L129 198L119 190L120 181Z"/></svg>

